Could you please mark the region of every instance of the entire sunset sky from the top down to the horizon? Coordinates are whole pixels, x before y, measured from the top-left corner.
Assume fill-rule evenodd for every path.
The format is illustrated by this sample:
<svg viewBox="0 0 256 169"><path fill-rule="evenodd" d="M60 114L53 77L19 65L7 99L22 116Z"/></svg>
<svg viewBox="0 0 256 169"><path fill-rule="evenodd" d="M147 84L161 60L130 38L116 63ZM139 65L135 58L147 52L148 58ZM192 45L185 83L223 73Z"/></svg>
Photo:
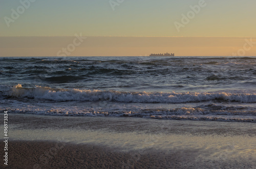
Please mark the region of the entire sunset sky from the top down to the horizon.
<svg viewBox="0 0 256 169"><path fill-rule="evenodd" d="M255 0L0 0L0 56L251 56L255 6Z"/></svg>

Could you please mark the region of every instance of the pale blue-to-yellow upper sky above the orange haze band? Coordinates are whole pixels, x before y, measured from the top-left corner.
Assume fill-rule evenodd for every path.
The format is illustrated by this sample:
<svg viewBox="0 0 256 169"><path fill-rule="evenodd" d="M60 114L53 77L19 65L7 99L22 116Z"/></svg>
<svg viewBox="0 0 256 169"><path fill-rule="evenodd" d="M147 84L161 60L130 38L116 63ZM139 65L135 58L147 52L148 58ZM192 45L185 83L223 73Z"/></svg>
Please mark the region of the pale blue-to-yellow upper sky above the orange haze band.
<svg viewBox="0 0 256 169"><path fill-rule="evenodd" d="M4 17L11 18L11 9L21 4L0 0L0 36L256 37L255 0L205 0L178 32L174 22L199 1L124 0L113 11L109 0L36 0L7 27Z"/></svg>

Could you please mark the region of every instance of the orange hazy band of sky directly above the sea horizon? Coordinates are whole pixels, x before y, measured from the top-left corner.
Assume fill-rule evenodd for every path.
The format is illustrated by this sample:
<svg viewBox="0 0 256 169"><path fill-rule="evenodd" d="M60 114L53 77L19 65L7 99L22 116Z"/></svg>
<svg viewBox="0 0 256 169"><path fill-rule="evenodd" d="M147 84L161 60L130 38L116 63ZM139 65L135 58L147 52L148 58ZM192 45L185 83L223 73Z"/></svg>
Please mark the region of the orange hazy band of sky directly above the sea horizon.
<svg viewBox="0 0 256 169"><path fill-rule="evenodd" d="M0 37L1 57L56 57L73 41L74 37ZM67 56L255 56L255 42L246 37L86 37Z"/></svg>

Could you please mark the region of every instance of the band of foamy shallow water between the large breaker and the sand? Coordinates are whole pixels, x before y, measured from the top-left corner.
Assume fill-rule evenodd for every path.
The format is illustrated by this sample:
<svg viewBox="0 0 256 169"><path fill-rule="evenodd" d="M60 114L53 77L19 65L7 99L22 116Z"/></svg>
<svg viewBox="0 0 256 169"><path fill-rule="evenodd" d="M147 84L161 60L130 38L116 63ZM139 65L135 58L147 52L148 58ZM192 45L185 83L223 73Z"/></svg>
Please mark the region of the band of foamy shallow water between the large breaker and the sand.
<svg viewBox="0 0 256 169"><path fill-rule="evenodd" d="M29 100L29 101L28 101ZM11 106L10 106L11 105ZM0 100L0 111L48 116L106 116L151 119L256 122L253 104L206 103L124 103L112 101Z"/></svg>

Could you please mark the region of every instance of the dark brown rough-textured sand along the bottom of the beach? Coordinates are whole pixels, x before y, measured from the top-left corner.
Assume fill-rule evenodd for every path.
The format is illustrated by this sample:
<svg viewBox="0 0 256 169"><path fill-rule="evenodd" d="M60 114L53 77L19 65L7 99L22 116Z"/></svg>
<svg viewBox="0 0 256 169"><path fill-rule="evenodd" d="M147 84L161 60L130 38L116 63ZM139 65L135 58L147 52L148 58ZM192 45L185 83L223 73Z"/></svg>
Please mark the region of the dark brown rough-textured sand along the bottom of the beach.
<svg viewBox="0 0 256 169"><path fill-rule="evenodd" d="M120 152L94 145L12 142L4 168L255 168L248 161L198 161L197 150Z"/></svg>

